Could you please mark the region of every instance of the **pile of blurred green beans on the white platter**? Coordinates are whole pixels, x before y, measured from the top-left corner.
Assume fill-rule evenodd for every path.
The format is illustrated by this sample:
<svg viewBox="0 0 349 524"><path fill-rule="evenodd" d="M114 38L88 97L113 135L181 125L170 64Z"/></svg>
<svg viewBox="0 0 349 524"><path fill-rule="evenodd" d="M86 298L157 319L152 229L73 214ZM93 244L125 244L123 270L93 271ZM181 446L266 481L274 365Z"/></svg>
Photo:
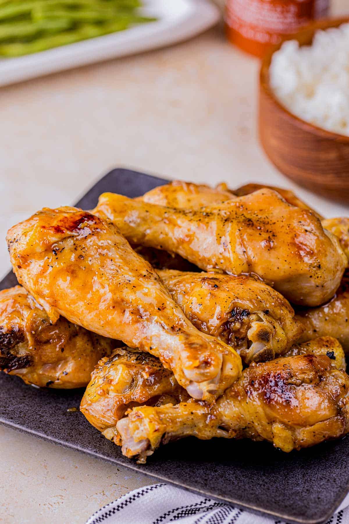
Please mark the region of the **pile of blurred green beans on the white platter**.
<svg viewBox="0 0 349 524"><path fill-rule="evenodd" d="M0 0L0 56L19 57L154 21L140 0Z"/></svg>

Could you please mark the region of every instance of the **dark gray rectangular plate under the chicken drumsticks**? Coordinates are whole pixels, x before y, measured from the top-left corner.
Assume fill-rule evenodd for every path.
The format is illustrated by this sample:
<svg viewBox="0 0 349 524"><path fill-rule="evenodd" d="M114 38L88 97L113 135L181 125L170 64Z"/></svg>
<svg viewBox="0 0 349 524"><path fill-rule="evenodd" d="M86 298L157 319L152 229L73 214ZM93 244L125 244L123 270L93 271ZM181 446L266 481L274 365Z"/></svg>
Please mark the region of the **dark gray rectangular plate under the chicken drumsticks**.
<svg viewBox="0 0 349 524"><path fill-rule="evenodd" d="M139 196L164 184L161 178L115 169L77 203L92 209L100 193ZM9 273L0 289L17 283ZM168 444L137 465L122 456L80 412L83 390L60 391L26 386L0 374L0 422L39 438L71 447L108 462L288 522L320 524L329 519L349 488L349 447L342 439L308 450L282 453L266 442L194 438Z"/></svg>

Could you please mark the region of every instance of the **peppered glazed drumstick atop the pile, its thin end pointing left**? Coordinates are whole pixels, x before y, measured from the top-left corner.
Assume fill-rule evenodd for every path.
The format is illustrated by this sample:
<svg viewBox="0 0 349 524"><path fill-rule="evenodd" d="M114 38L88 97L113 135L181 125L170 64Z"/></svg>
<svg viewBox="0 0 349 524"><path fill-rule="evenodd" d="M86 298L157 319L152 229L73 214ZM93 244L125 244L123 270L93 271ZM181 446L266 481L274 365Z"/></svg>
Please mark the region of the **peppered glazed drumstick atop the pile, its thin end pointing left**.
<svg viewBox="0 0 349 524"><path fill-rule="evenodd" d="M347 264L338 239L312 212L289 205L270 189L200 210L104 193L95 212L131 243L177 253L205 270L254 272L297 304L329 300Z"/></svg>

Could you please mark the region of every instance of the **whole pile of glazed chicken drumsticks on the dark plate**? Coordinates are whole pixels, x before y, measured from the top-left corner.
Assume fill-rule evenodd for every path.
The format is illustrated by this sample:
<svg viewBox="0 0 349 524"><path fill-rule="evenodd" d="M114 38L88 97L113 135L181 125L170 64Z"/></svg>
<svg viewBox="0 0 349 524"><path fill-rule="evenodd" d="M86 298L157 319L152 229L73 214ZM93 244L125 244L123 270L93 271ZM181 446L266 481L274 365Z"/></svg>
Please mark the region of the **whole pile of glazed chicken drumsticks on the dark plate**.
<svg viewBox="0 0 349 524"><path fill-rule="evenodd" d="M44 208L7 244L20 285L0 292L0 369L87 385L82 413L124 455L349 432L349 219L279 188L172 182Z"/></svg>

